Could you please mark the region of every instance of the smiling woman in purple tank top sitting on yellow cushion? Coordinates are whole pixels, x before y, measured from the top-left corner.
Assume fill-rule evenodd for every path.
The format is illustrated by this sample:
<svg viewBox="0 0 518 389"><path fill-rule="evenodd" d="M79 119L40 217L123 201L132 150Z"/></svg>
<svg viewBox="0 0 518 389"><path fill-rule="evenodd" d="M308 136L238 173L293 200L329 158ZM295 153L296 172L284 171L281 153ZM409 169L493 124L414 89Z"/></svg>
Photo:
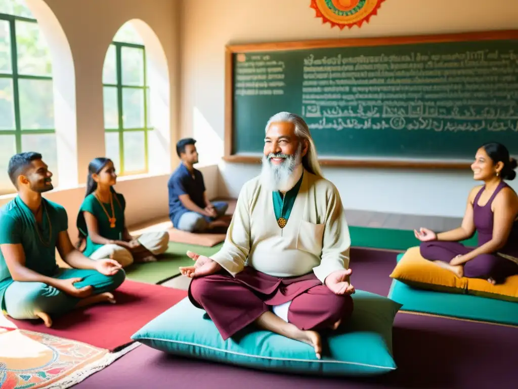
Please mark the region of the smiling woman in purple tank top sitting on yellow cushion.
<svg viewBox="0 0 518 389"><path fill-rule="evenodd" d="M516 160L507 148L488 143L477 150L471 164L473 178L484 185L471 190L461 227L435 233L414 230L421 255L458 277L480 278L500 284L518 274L518 196L504 179L516 176ZM478 232L478 246L459 241Z"/></svg>

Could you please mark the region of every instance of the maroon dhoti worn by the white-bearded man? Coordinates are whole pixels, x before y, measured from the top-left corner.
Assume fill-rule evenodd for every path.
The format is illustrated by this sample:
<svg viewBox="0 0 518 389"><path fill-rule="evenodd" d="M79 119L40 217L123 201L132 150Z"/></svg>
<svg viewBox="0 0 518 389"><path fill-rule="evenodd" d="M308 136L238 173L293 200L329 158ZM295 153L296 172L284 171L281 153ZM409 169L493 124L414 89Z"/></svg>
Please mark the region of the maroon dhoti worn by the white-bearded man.
<svg viewBox="0 0 518 389"><path fill-rule="evenodd" d="M235 277L220 272L193 279L189 299L207 312L223 340L254 322L270 306L288 301L288 322L302 330L330 328L353 311L351 296L335 295L313 273L274 277L251 267Z"/></svg>

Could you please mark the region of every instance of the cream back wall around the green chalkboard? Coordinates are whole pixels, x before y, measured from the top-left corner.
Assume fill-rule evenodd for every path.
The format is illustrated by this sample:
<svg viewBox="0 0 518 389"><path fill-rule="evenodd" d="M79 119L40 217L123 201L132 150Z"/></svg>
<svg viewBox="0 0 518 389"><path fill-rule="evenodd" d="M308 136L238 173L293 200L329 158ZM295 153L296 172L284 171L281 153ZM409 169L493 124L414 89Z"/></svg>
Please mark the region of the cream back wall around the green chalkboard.
<svg viewBox="0 0 518 389"><path fill-rule="evenodd" d="M322 25L309 0L184 0L181 13L181 134L218 161L224 138L224 46L319 38L377 37L518 28L516 0L387 0L360 29ZM473 152L476 150L473 150ZM220 195L237 197L258 165L220 162ZM324 169L348 209L462 216L469 171ZM510 182L518 190L518 180Z"/></svg>

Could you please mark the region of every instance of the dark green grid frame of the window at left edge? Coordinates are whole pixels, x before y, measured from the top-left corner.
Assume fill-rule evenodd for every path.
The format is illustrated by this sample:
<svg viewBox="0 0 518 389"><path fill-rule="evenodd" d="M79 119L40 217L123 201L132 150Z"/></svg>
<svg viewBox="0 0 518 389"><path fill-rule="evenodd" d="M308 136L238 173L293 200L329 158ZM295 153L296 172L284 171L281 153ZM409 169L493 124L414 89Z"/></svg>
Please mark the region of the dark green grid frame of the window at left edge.
<svg viewBox="0 0 518 389"><path fill-rule="evenodd" d="M55 134L56 130L54 128L50 129L23 129L21 127L21 110L20 110L20 88L18 85L18 81L20 79L25 80L50 80L53 81L52 76L31 76L19 74L18 72L18 47L16 41L16 22L30 22L38 24L36 19L25 18L22 16L9 15L8 13L0 13L0 21L5 20L9 22L9 39L10 39L10 49L11 49L11 72L10 73L0 73L0 78L2 79L10 79L12 81L12 101L13 101L13 110L15 115L15 128L13 130L4 130L0 129L0 140L4 135L15 135L15 144L16 144L16 153L22 151L22 134L23 135L46 135L46 134ZM54 103L54 96L52 96L52 103ZM55 119L54 119L55 120ZM55 126L55 121L54 121Z"/></svg>

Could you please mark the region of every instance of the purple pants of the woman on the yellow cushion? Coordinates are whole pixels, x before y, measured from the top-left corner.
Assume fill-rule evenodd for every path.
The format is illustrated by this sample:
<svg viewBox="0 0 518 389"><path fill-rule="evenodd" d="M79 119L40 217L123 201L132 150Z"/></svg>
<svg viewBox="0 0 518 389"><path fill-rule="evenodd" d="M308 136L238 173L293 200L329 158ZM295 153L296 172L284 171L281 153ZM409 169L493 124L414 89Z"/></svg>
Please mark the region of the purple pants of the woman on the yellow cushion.
<svg viewBox="0 0 518 389"><path fill-rule="evenodd" d="M472 251L458 242L431 241L420 245L421 256L430 261L450 262L457 255ZM480 254L464 263L464 276L469 278L492 278L497 284L507 277L518 274L518 265L513 261L493 254Z"/></svg>

